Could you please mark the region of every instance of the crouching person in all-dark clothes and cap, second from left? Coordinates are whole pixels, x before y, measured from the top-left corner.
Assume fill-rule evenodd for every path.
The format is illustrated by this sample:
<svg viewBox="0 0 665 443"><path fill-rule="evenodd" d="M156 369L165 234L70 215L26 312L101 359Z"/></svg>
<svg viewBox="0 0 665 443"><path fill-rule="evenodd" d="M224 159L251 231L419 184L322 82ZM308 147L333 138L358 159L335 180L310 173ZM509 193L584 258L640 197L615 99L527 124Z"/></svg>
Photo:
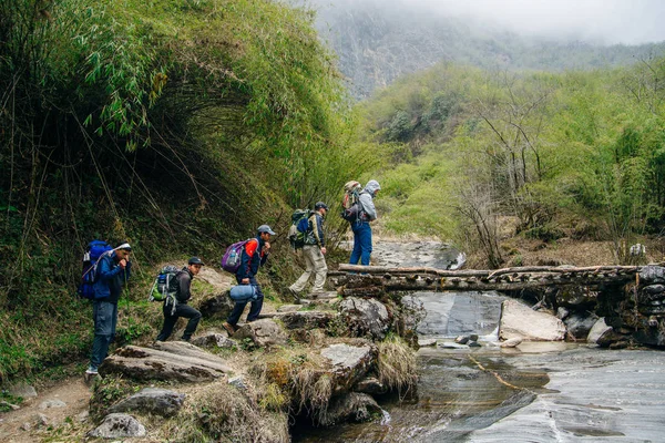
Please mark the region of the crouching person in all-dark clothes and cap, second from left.
<svg viewBox="0 0 665 443"><path fill-rule="evenodd" d="M182 340L190 341L192 339L192 334L196 331L198 321L201 321L201 312L187 305L187 301L192 298L192 279L201 272L202 266L204 264L201 261L201 258L192 257L187 260L187 266L175 275L177 291L175 292L175 299L166 298L164 300L162 308L164 312L164 326L157 336L157 341L166 341L171 337L173 327L181 317L190 319L183 332Z"/></svg>

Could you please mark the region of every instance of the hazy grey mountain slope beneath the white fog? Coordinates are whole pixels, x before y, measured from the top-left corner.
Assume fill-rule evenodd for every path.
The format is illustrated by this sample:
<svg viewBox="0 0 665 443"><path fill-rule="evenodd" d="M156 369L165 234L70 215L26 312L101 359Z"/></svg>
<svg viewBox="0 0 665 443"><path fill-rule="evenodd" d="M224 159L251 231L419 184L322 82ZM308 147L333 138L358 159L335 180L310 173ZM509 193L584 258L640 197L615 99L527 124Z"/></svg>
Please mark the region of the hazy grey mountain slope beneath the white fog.
<svg viewBox="0 0 665 443"><path fill-rule="evenodd" d="M398 76L440 61L498 70L587 70L632 64L665 52L665 43L594 45L524 38L461 19L377 3L317 8L316 25L339 55L357 99Z"/></svg>

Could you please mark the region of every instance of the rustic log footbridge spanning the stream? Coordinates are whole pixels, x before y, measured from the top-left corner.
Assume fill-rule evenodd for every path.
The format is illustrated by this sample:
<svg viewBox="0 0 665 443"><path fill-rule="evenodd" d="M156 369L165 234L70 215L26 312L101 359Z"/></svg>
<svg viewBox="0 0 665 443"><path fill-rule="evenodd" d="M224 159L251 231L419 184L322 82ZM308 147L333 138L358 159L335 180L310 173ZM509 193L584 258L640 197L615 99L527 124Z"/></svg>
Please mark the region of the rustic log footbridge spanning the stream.
<svg viewBox="0 0 665 443"><path fill-rule="evenodd" d="M658 264L663 266L663 264ZM642 266L528 266L495 270L436 268L391 268L383 266L339 265L330 277L344 296L371 296L386 291L514 291L545 286L640 284Z"/></svg>

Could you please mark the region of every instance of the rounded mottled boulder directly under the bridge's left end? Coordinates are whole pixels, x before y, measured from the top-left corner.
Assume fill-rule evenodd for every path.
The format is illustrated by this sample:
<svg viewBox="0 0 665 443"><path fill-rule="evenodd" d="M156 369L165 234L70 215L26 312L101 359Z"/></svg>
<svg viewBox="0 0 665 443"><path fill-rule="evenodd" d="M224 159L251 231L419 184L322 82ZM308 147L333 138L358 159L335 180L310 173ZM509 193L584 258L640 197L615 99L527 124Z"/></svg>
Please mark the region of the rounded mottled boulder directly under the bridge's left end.
<svg viewBox="0 0 665 443"><path fill-rule="evenodd" d="M386 306L375 299L348 297L339 305L339 313L349 331L356 337L386 338L390 316Z"/></svg>

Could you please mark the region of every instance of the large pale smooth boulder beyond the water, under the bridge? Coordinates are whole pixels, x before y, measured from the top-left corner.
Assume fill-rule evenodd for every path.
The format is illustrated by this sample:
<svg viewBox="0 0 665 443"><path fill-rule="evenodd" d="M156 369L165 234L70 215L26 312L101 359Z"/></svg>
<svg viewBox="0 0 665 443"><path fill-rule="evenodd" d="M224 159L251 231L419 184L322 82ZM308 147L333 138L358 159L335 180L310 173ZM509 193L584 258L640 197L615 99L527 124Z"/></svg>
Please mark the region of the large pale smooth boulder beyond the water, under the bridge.
<svg viewBox="0 0 665 443"><path fill-rule="evenodd" d="M516 300L501 303L499 338L520 337L531 341L556 341L565 338L565 324L554 316L536 312Z"/></svg>

